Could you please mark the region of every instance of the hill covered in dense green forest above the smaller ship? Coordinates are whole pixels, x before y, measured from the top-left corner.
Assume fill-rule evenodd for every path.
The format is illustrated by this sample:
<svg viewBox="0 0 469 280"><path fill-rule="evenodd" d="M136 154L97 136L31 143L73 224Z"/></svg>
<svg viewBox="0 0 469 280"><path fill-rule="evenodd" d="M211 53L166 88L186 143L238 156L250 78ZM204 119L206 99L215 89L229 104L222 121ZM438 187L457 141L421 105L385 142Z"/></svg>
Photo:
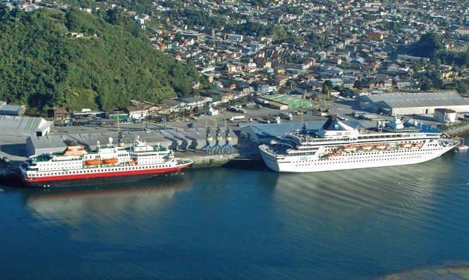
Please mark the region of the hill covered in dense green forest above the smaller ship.
<svg viewBox="0 0 469 280"><path fill-rule="evenodd" d="M158 102L187 96L198 79L195 68L152 49L121 11L0 7L0 100L26 104L30 113L63 105L114 110L131 99Z"/></svg>

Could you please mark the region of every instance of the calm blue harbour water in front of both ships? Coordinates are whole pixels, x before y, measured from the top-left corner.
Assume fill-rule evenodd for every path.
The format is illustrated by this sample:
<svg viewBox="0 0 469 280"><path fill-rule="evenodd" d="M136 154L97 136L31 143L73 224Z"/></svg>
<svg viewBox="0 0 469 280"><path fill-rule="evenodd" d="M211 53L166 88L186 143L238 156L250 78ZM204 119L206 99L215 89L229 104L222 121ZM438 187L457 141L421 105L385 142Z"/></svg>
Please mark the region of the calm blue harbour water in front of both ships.
<svg viewBox="0 0 469 280"><path fill-rule="evenodd" d="M4 187L0 279L379 279L469 261L469 153L310 174L209 168Z"/></svg>

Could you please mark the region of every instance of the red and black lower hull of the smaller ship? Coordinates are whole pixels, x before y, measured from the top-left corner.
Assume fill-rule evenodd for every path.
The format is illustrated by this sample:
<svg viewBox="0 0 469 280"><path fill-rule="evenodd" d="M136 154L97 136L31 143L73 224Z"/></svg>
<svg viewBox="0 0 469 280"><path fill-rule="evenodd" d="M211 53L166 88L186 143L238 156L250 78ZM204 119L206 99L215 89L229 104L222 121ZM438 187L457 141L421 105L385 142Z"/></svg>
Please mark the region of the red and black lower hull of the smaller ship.
<svg viewBox="0 0 469 280"><path fill-rule="evenodd" d="M156 169L138 169L138 166L124 171L109 171L80 174L83 170L70 170L75 174L61 174L56 176L35 177L34 179L23 179L23 185L27 187L61 187L61 186L83 186L88 184L109 184L112 182L135 182L149 177L164 176L174 174L188 168L192 163L176 165L173 167ZM109 170L113 170L109 168Z"/></svg>

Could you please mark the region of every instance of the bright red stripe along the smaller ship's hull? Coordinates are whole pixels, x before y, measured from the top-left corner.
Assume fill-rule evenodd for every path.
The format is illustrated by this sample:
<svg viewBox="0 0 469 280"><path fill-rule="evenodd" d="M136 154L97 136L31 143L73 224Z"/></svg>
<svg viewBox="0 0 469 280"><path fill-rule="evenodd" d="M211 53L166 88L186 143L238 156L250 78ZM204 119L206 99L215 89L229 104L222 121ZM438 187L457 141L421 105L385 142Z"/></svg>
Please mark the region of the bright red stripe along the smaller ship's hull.
<svg viewBox="0 0 469 280"><path fill-rule="evenodd" d="M54 176L45 176L45 177L33 177L33 178L25 178L25 182L36 183L36 182L70 180L70 179L118 177L118 176L140 175L140 174L162 174L162 173L169 173L169 172L182 170L186 167L189 167L191 164L192 163L187 164L187 165L177 165L175 167L169 167L169 168L157 168L157 169L148 169L148 170L122 170L122 171L114 171L114 172L111 171L111 172L96 172L96 173L86 173L86 174L63 174L63 175L54 175Z"/></svg>

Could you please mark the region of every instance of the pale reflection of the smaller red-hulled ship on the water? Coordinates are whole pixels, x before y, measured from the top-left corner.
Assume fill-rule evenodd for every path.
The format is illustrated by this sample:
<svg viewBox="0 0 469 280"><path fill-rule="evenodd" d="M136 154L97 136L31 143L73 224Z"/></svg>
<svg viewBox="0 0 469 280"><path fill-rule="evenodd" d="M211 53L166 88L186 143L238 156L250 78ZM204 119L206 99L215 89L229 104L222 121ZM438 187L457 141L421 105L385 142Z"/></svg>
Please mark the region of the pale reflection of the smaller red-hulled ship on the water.
<svg viewBox="0 0 469 280"><path fill-rule="evenodd" d="M184 174L154 177L139 182L25 190L25 205L32 215L51 224L118 222L145 219L164 210L173 196L185 191Z"/></svg>

